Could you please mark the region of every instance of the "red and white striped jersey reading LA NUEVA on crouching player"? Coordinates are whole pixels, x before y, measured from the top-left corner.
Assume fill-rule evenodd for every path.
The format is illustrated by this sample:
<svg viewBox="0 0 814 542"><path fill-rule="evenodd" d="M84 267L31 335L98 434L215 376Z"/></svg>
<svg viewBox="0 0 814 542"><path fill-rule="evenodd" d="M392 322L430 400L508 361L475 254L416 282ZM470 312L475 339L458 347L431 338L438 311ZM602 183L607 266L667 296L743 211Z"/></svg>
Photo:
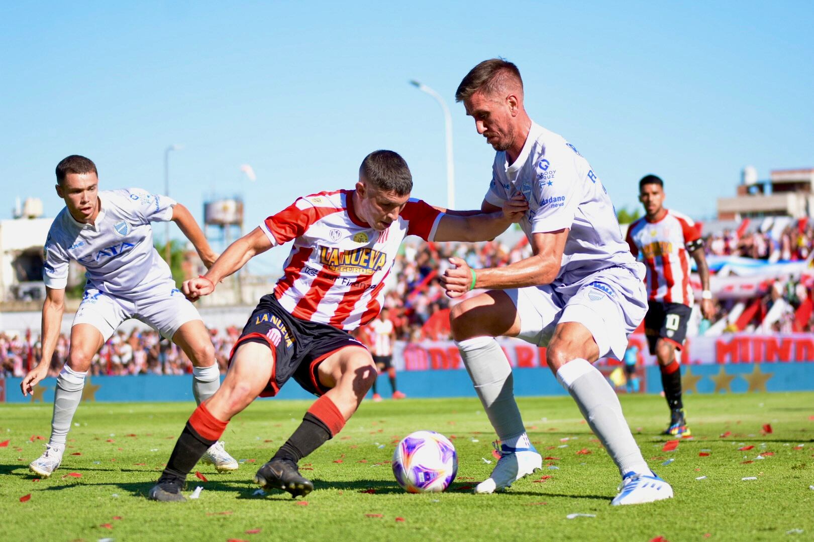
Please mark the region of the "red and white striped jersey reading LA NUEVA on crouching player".
<svg viewBox="0 0 814 542"><path fill-rule="evenodd" d="M272 246L294 241L274 297L296 318L350 331L382 308L383 288L405 236L432 241L443 214L410 199L390 228L370 228L353 210L353 190L299 197L260 228Z"/></svg>

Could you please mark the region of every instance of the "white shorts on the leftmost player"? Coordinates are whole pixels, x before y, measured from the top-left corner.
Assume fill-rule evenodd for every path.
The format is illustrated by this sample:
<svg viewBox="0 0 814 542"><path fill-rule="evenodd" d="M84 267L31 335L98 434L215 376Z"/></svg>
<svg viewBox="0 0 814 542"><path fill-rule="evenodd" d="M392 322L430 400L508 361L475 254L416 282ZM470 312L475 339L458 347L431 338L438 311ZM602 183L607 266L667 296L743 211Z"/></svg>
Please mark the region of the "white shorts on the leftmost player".
<svg viewBox="0 0 814 542"><path fill-rule="evenodd" d="M104 340L107 340L122 322L134 318L160 332L166 339L172 340L179 327L192 320L201 319L195 306L184 297L172 281L156 285L150 294L131 299L102 292L89 284L85 288L85 295L77 314L73 317L72 326L77 323L90 323L102 333Z"/></svg>

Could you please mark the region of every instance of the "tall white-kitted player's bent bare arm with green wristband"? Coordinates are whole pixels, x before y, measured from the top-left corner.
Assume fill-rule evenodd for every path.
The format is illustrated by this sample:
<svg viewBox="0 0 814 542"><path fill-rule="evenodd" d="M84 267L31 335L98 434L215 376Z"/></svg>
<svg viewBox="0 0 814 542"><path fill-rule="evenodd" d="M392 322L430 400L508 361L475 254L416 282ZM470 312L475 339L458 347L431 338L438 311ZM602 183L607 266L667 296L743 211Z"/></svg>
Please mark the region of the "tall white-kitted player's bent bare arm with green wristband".
<svg viewBox="0 0 814 542"><path fill-rule="evenodd" d="M441 284L449 297L461 297L474 288L499 290L549 284L559 275L568 232L568 228L563 228L535 233L534 255L505 267L471 269L461 258L449 258L454 267L444 272Z"/></svg>

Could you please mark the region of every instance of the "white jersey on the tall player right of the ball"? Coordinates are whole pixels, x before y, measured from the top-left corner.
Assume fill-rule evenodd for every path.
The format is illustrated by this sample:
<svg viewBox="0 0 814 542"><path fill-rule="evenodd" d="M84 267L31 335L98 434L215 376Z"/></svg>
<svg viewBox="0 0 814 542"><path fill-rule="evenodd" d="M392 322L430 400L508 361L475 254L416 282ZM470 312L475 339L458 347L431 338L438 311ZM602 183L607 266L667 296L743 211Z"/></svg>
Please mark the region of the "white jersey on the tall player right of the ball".
<svg viewBox="0 0 814 542"><path fill-rule="evenodd" d="M571 230L554 287L608 267L627 267L644 278L644 266L630 254L610 197L588 160L562 136L535 123L513 164L506 162L505 151L495 156L485 200L500 207L518 192L529 205L520 222L529 241L534 233Z"/></svg>

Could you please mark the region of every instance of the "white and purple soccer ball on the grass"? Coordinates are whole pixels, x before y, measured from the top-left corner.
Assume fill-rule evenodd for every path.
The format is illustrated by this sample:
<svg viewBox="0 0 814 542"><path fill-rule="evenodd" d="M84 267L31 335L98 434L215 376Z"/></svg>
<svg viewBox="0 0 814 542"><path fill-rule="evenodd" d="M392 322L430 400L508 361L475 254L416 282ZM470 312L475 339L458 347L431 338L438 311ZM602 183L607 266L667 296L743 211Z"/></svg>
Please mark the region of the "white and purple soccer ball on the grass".
<svg viewBox="0 0 814 542"><path fill-rule="evenodd" d="M408 492L441 492L457 475L457 453L440 433L415 431L396 446L392 466L396 481Z"/></svg>

